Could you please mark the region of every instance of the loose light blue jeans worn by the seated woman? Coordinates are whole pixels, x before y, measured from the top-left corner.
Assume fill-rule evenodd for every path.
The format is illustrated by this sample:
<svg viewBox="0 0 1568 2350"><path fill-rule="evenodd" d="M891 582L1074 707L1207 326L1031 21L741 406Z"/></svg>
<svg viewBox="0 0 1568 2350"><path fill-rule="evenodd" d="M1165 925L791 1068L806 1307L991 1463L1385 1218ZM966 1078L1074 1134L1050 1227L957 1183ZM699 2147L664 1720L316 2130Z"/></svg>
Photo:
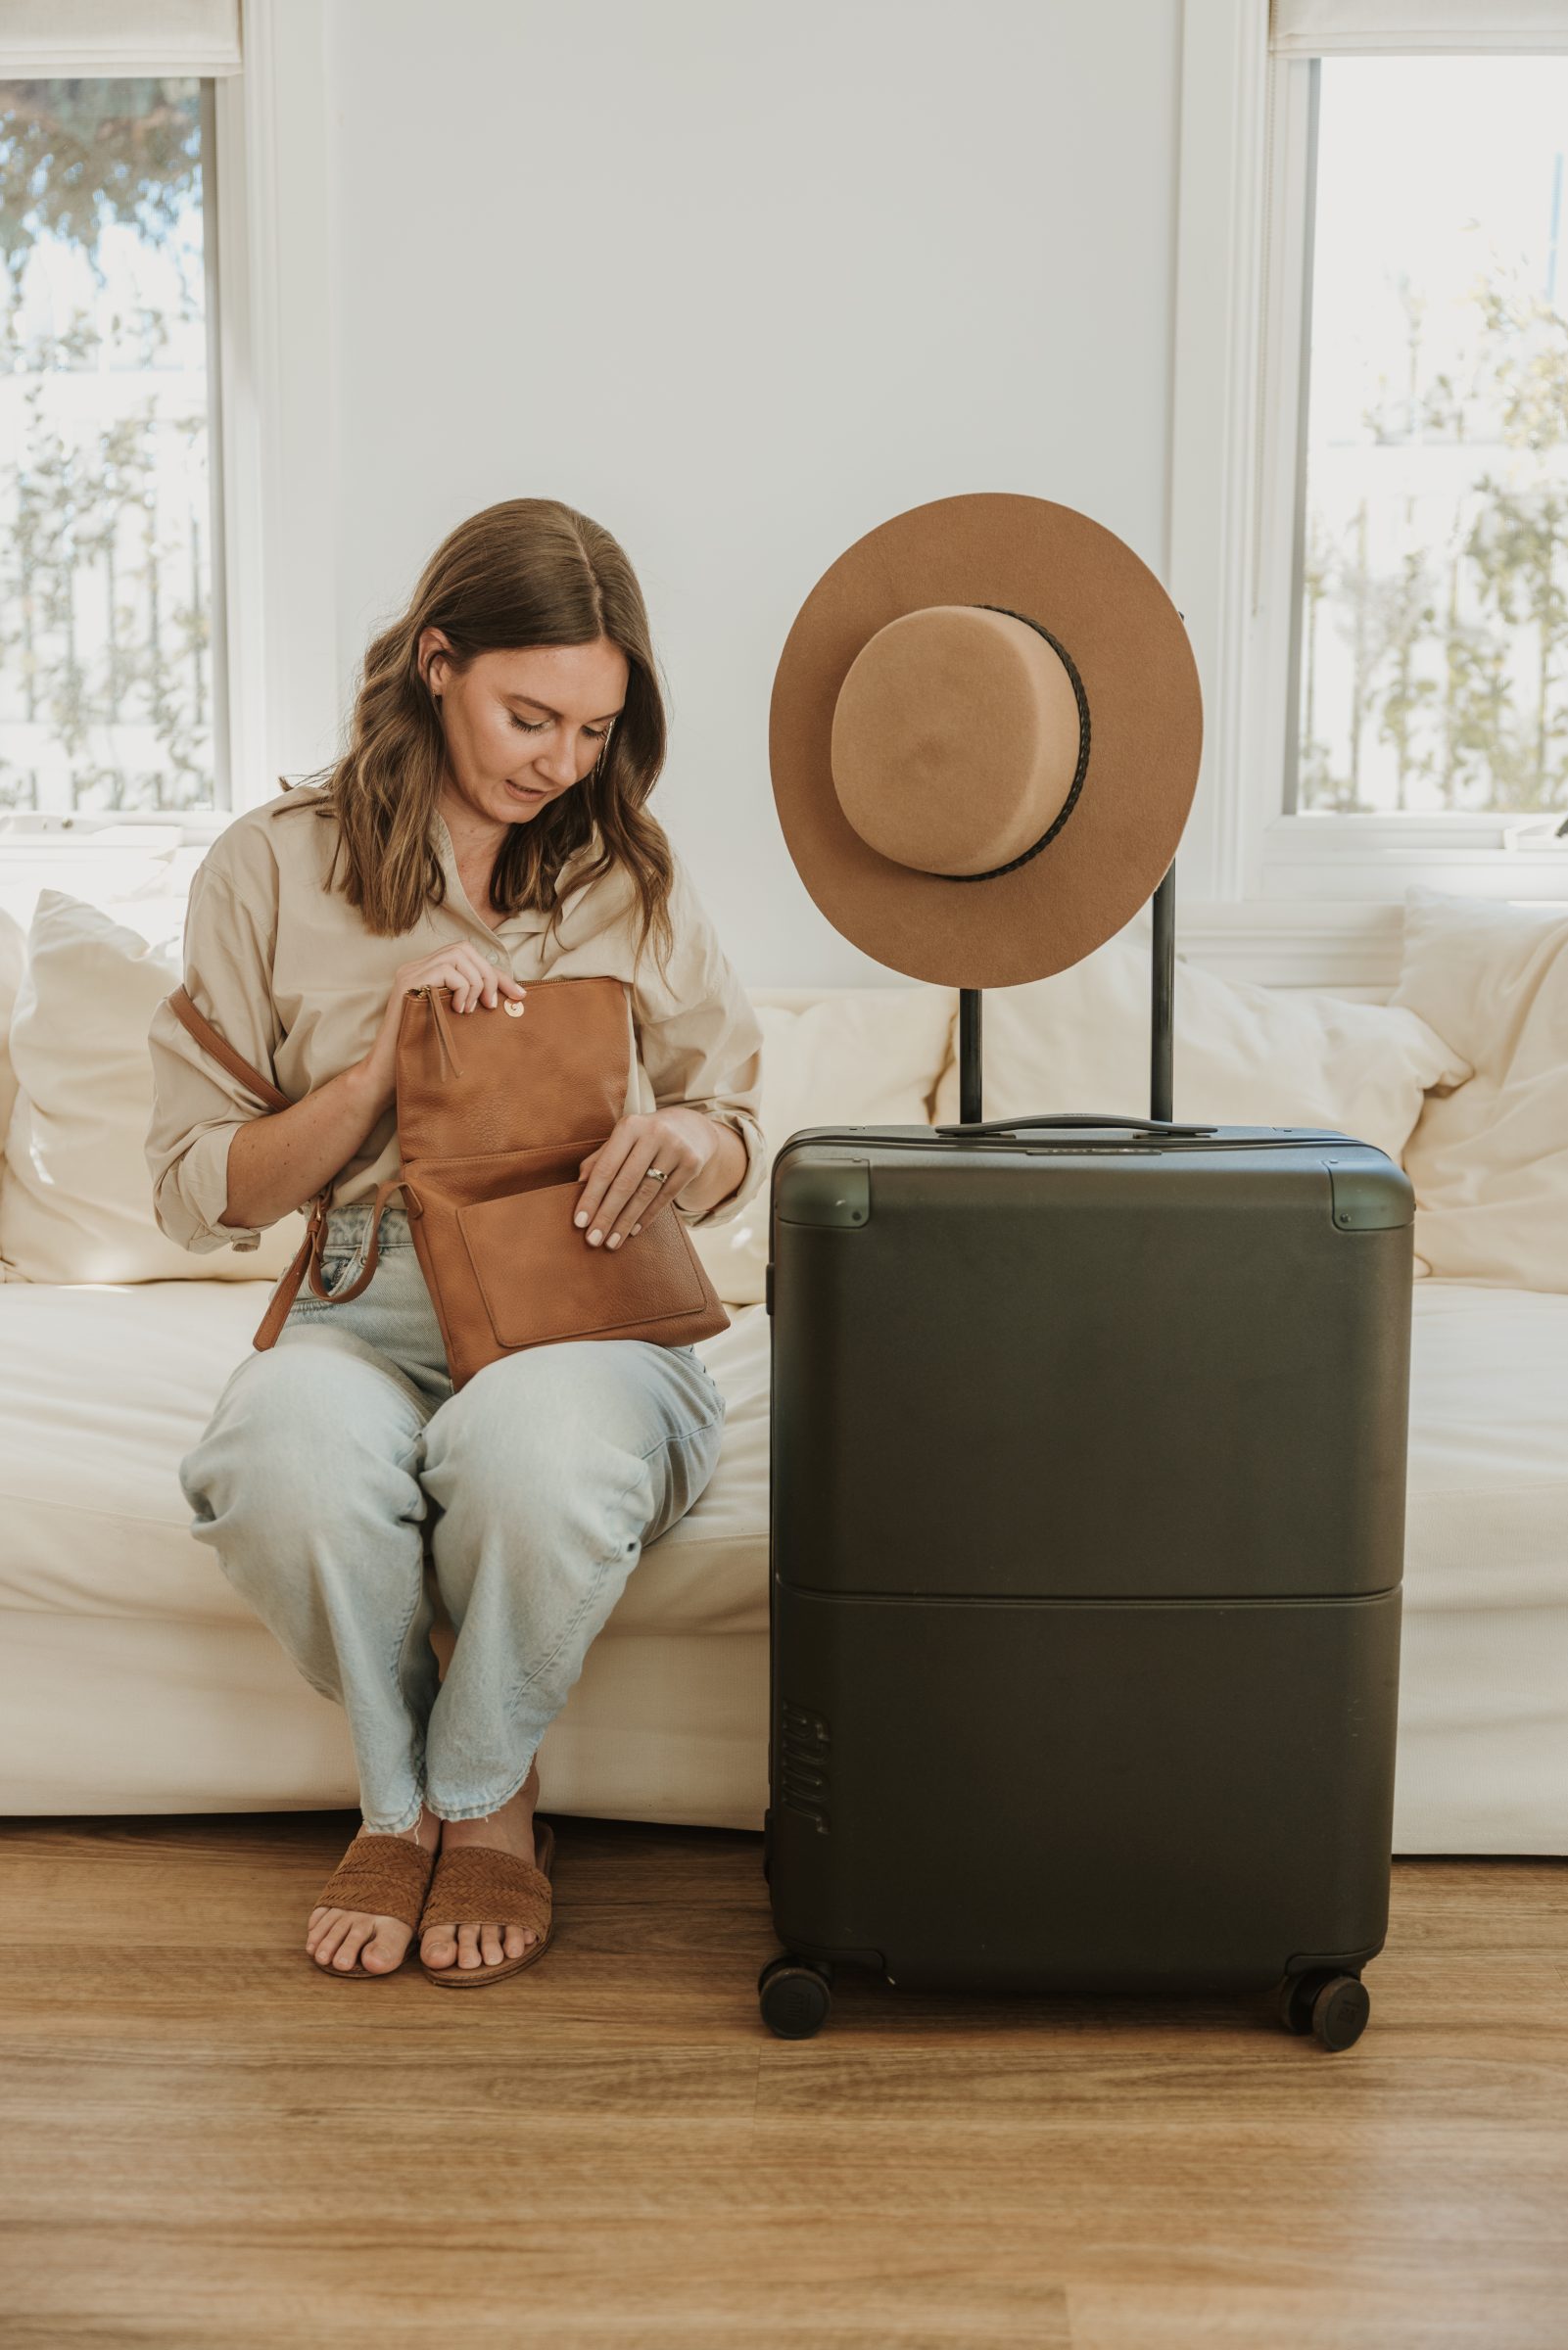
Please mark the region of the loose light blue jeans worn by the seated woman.
<svg viewBox="0 0 1568 2350"><path fill-rule="evenodd" d="M369 1203L331 1208L322 1283L364 1264ZM585 1243L583 1243L585 1246ZM623 1241L635 1248L637 1241ZM179 1464L190 1532L313 1690L348 1713L367 1826L498 1812L637 1565L719 1459L696 1347L567 1340L454 1394L407 1210L376 1274L303 1281ZM440 1678L425 1586L456 1631Z"/></svg>

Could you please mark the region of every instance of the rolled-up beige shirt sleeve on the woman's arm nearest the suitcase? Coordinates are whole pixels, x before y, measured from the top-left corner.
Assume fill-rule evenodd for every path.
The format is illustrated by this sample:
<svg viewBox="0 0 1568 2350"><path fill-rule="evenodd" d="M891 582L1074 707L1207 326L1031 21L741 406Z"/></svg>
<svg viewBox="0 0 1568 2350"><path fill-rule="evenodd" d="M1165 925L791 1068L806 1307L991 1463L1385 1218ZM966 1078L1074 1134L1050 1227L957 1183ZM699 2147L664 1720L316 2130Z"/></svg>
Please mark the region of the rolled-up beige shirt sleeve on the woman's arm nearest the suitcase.
<svg viewBox="0 0 1568 2350"><path fill-rule="evenodd" d="M684 860L675 855L670 888L675 949L668 971L651 947L637 961L632 1022L656 1109L701 1109L745 1144L745 1175L708 1210L670 1208L684 1224L729 1224L762 1184L762 1022L731 968Z"/></svg>

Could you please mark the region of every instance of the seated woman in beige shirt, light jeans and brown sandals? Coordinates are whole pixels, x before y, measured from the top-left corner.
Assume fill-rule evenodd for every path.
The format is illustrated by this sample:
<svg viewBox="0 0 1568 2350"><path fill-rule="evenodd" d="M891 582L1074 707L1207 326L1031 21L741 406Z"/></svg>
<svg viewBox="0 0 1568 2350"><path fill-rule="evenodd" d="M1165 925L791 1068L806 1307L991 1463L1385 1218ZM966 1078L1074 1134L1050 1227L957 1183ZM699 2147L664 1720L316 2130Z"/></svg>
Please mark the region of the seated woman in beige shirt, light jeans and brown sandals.
<svg viewBox="0 0 1568 2350"><path fill-rule="evenodd" d="M762 1029L644 813L663 754L646 611L609 531L552 498L461 524L369 646L346 757L237 815L193 877L186 989L289 1109L263 1114L160 1006L160 1229L256 1248L334 1180L322 1281L348 1288L400 1163L404 994L449 987L470 1015L607 973L632 1008L628 1109L583 1159L581 1246L637 1248L658 1215L729 1222L764 1173ZM416 1929L451 1986L541 1955L538 1741L722 1426L696 1349L644 1340L529 1347L454 1394L407 1208L386 1210L360 1297L301 1285L277 1344L230 1372L181 1462L190 1530L346 1708L360 1774L364 1824L308 1920L317 1967L390 1974ZM425 1535L456 1629L444 1680Z"/></svg>

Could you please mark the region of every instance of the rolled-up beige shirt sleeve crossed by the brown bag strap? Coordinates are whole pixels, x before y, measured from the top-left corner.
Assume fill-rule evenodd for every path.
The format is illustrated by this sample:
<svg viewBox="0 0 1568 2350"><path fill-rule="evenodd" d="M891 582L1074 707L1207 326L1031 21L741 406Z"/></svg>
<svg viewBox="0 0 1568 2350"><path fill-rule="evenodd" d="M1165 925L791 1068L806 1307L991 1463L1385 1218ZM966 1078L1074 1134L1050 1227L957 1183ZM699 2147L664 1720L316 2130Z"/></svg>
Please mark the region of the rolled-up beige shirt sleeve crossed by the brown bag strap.
<svg viewBox="0 0 1568 2350"><path fill-rule="evenodd" d="M183 980L195 1008L252 1069L273 1074L280 1022L273 1008L275 902L263 870L230 877L214 851L190 877ZM228 1147L270 1102L230 1076L176 1018L167 999L148 1027L153 1116L146 1161L153 1217L179 1248L259 1248L261 1227L221 1224L228 1206Z"/></svg>

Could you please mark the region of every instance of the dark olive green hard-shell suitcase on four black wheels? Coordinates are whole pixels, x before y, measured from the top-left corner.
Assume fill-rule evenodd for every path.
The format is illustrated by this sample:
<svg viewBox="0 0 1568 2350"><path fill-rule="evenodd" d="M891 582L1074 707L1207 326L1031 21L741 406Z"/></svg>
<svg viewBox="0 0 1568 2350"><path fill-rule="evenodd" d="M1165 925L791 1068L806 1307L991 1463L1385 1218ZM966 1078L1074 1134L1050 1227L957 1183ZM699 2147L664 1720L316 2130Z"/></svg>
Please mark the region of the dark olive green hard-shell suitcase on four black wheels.
<svg viewBox="0 0 1568 2350"><path fill-rule="evenodd" d="M1168 956L1161 1020L1168 1083ZM818 2030L863 1967L1267 1988L1291 2030L1359 2037L1410 1227L1401 1168L1312 1128L971 1116L778 1149L771 2030Z"/></svg>

